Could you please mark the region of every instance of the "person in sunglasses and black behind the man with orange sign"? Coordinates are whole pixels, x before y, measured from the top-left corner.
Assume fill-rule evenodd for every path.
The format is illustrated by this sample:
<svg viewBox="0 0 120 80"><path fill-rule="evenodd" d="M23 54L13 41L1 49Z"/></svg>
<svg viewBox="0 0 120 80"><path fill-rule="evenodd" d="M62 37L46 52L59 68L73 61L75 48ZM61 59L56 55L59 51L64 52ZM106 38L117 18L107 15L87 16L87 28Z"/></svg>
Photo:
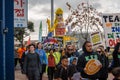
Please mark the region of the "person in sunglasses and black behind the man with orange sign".
<svg viewBox="0 0 120 80"><path fill-rule="evenodd" d="M102 46L98 46L96 49L96 52L101 56L102 68L100 70L100 73L101 73L100 80L107 80L108 66L109 66L109 60L108 60L107 54L104 51L104 47Z"/></svg>

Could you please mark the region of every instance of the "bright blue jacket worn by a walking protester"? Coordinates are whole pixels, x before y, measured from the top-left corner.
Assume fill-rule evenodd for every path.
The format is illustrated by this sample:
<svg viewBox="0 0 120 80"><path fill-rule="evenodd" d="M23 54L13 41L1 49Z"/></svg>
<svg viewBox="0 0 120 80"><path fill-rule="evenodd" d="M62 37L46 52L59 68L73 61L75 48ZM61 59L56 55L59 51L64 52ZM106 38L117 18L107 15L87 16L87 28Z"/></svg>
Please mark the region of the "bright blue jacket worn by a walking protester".
<svg viewBox="0 0 120 80"><path fill-rule="evenodd" d="M35 52L39 54L41 64L48 64L47 56L43 49L36 49Z"/></svg>

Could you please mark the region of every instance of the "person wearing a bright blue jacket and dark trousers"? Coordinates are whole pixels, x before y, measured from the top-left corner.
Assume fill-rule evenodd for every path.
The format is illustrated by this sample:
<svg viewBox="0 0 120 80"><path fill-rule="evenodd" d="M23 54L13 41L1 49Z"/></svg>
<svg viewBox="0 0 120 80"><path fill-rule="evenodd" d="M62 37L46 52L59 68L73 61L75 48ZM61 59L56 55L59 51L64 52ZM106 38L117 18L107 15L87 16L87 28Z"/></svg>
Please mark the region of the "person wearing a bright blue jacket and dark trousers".
<svg viewBox="0 0 120 80"><path fill-rule="evenodd" d="M42 44L40 42L37 43L37 48L35 50L39 54L40 62L42 65L42 73L40 73L40 80L42 80L43 73L46 70L46 65L48 64L46 52L42 49Z"/></svg>

